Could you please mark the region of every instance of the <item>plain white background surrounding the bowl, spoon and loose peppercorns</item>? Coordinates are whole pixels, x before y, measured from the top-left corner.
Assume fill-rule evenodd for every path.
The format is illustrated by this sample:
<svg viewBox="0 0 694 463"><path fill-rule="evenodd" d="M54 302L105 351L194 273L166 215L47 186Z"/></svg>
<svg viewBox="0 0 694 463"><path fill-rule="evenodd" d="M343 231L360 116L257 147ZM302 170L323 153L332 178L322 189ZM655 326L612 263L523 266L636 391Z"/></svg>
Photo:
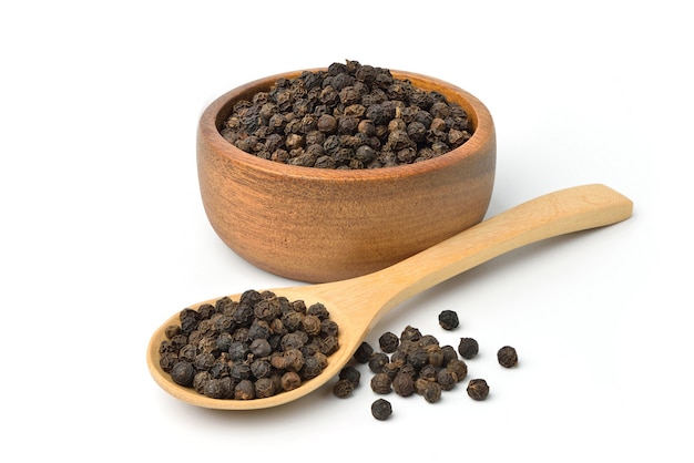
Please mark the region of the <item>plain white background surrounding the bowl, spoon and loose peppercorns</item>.
<svg viewBox="0 0 694 463"><path fill-rule="evenodd" d="M2 447L12 461L692 461L691 17L653 1L23 1L0 7ZM631 219L502 256L401 305L480 342L437 404L363 385L256 412L151 379L152 331L188 303L290 286L228 250L197 188L222 93L357 60L449 81L498 132L489 216L604 183ZM441 217L446 219L446 217ZM438 313L461 327L443 332ZM503 344L520 364L496 363ZM213 460L214 459L214 460ZM221 459L221 460L217 460Z"/></svg>

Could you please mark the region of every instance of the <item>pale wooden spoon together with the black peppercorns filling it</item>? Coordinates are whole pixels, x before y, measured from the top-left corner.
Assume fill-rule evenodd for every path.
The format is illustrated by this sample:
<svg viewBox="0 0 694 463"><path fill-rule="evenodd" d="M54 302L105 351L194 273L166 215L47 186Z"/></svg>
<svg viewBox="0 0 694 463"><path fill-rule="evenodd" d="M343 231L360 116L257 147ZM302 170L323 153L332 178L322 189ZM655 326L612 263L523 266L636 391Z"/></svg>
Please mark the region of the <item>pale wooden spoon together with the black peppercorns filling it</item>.
<svg viewBox="0 0 694 463"><path fill-rule="evenodd" d="M604 185L576 186L370 275L203 301L153 333L147 367L162 389L193 405L282 405L337 377L371 328L406 299L524 245L619 223L632 209L629 198Z"/></svg>

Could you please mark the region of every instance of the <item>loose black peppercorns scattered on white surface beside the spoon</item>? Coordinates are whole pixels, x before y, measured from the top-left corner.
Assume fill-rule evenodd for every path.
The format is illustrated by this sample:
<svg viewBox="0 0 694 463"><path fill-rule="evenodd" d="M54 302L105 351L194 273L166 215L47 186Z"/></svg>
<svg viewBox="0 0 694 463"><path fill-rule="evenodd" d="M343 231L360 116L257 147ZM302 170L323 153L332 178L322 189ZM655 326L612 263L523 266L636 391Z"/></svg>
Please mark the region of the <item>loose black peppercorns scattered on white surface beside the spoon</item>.
<svg viewBox="0 0 694 463"><path fill-rule="evenodd" d="M441 311L439 325L445 330L457 328L458 315L452 310ZM422 335L411 326L407 326L399 337L390 331L382 333L378 344L380 350L375 350L365 341L354 354L355 364L367 364L371 371L371 390L379 395L390 392L400 397L418 394L429 403L438 402L442 391L452 390L466 379L468 366L465 360L479 352L473 338L460 338L456 349L450 344L441 346L435 336ZM497 360L504 368L514 367L518 363L516 349L502 347L497 352ZM355 364L340 371L333 388L336 397L347 398L359 385L360 372ZM486 400L489 385L486 380L476 378L468 382L466 391L474 400ZM377 420L386 420L391 413L392 405L386 399L377 399L371 405L371 414Z"/></svg>

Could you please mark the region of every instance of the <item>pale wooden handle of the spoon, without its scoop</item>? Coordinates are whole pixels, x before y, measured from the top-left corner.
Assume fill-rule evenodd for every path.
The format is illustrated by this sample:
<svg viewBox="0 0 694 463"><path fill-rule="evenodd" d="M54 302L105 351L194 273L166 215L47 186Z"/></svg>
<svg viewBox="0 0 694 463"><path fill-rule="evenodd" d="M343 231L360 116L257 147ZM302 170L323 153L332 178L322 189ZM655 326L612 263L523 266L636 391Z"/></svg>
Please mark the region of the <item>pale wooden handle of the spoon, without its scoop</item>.
<svg viewBox="0 0 694 463"><path fill-rule="evenodd" d="M380 315L401 301L510 250L629 218L633 203L600 184L561 189L531 199L428 248L374 278L384 301ZM368 286L368 285L365 285ZM379 317L378 317L379 318Z"/></svg>

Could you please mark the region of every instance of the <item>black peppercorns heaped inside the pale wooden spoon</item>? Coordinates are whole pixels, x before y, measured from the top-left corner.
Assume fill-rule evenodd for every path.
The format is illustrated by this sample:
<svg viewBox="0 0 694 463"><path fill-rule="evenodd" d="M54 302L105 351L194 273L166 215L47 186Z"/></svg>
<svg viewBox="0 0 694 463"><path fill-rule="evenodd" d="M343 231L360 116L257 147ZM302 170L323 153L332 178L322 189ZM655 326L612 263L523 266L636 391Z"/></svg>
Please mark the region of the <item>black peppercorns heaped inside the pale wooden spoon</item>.
<svg viewBox="0 0 694 463"><path fill-rule="evenodd" d="M238 301L183 309L160 343L160 366L212 399L267 398L320 374L339 348L337 331L319 302L247 290Z"/></svg>

